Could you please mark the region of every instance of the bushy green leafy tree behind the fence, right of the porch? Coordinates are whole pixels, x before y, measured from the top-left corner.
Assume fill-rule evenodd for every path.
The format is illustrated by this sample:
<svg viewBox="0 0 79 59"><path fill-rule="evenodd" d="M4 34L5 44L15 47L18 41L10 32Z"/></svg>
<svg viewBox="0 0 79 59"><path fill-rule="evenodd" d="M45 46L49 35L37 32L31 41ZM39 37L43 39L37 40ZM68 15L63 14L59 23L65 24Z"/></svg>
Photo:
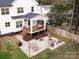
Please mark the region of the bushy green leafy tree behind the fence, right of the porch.
<svg viewBox="0 0 79 59"><path fill-rule="evenodd" d="M69 7L67 5L54 4L54 6L51 7L51 11L48 13L49 25L50 26L61 25L63 21L66 20L68 10L69 10Z"/></svg>

